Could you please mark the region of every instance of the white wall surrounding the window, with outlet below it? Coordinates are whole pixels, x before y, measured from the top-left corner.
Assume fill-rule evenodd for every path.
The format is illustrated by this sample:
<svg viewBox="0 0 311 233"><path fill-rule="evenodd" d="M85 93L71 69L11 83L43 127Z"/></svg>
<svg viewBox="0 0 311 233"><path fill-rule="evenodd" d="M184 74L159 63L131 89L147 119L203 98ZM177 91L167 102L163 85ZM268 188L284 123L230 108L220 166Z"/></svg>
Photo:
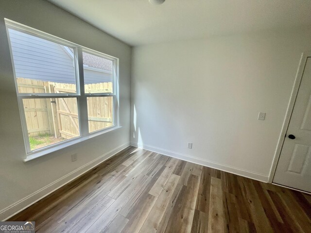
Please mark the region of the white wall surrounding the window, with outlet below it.
<svg viewBox="0 0 311 233"><path fill-rule="evenodd" d="M23 163L26 152L4 17L118 57L120 59L120 122L122 128L32 162ZM111 155L120 150L122 148L119 148L120 146L128 145L131 48L47 1L1 0L0 54L1 220L99 162L88 164L91 161L109 151L108 155ZM74 163L70 160L72 153L78 153L78 161ZM80 167L83 168L76 170ZM28 195L31 196L27 197Z"/></svg>

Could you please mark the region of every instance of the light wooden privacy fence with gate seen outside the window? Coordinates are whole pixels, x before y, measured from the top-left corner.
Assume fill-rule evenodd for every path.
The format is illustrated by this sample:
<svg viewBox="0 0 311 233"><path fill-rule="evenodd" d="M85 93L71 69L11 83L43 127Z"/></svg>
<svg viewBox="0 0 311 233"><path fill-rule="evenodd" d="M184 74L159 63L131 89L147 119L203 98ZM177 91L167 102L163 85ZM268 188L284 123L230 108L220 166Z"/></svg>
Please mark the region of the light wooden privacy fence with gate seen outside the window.
<svg viewBox="0 0 311 233"><path fill-rule="evenodd" d="M75 93L76 85L69 83L43 82L17 78L19 93ZM99 90L112 91L112 83L85 85L86 93ZM56 138L70 139L79 136L78 105L76 98L24 99L28 134L36 136L51 134ZM112 97L87 98L89 132L112 126Z"/></svg>

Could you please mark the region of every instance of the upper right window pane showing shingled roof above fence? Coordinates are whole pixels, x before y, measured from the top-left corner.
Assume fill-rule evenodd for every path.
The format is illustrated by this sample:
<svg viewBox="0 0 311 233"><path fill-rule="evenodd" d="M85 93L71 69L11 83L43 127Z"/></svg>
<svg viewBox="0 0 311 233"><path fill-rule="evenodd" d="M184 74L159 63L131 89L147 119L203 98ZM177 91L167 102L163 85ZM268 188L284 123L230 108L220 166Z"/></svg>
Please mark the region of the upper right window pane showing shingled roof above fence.
<svg viewBox="0 0 311 233"><path fill-rule="evenodd" d="M112 93L112 61L83 52L85 93Z"/></svg>

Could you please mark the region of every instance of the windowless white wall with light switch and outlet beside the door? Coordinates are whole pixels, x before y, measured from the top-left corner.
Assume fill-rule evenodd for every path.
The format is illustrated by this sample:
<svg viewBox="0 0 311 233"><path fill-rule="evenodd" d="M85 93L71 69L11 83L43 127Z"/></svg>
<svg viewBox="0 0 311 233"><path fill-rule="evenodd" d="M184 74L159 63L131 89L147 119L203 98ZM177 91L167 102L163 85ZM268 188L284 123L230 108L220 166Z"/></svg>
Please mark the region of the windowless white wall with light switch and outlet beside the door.
<svg viewBox="0 0 311 233"><path fill-rule="evenodd" d="M132 145L267 181L310 49L311 28L135 47Z"/></svg>

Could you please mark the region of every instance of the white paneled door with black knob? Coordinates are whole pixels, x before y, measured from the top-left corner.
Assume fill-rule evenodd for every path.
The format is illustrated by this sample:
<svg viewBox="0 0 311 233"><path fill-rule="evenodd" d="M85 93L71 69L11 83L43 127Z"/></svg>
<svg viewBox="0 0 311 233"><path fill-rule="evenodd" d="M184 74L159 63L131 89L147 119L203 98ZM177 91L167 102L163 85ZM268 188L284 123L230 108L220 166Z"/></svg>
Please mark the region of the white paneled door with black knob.
<svg viewBox="0 0 311 233"><path fill-rule="evenodd" d="M311 192L311 57L305 65L273 183Z"/></svg>

